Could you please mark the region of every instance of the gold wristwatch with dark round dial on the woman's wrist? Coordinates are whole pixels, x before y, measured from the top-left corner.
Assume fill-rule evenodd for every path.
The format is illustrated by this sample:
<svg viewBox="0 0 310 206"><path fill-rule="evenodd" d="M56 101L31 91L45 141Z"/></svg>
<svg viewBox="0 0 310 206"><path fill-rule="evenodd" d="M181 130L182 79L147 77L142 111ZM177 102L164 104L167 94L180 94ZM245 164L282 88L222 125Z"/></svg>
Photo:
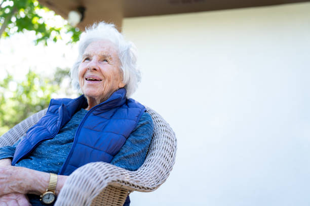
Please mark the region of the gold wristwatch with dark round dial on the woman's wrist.
<svg viewBox="0 0 310 206"><path fill-rule="evenodd" d="M40 195L41 202L44 204L52 204L56 200L56 186L57 186L58 176L56 174L50 173L50 182L46 191Z"/></svg>

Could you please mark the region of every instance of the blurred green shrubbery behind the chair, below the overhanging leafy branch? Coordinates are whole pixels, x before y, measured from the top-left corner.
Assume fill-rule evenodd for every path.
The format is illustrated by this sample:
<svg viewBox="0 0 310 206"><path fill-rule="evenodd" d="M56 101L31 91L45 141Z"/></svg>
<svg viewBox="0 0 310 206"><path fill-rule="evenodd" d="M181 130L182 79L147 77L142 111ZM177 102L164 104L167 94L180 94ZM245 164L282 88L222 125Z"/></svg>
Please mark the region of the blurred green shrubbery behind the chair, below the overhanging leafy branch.
<svg viewBox="0 0 310 206"><path fill-rule="evenodd" d="M0 135L30 115L49 106L51 97L60 91L68 69L57 69L57 78L44 78L29 70L25 80L16 81L7 73L0 81Z"/></svg>

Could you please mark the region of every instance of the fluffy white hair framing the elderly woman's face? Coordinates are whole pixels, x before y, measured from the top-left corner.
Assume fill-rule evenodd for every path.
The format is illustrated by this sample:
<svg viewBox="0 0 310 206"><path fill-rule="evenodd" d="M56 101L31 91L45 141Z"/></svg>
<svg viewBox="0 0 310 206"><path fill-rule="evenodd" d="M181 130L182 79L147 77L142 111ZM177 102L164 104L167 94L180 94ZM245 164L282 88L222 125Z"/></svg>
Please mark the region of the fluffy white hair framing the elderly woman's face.
<svg viewBox="0 0 310 206"><path fill-rule="evenodd" d="M70 70L71 84L74 89L82 93L78 72L82 62L82 56L87 46L93 41L108 40L111 41L118 50L119 59L121 62L121 71L123 73L123 82L126 84L127 98L129 98L137 89L138 83L141 81L141 73L137 66L137 55L135 45L124 39L124 36L115 29L114 24L99 22L86 28L82 33L79 42L79 56Z"/></svg>

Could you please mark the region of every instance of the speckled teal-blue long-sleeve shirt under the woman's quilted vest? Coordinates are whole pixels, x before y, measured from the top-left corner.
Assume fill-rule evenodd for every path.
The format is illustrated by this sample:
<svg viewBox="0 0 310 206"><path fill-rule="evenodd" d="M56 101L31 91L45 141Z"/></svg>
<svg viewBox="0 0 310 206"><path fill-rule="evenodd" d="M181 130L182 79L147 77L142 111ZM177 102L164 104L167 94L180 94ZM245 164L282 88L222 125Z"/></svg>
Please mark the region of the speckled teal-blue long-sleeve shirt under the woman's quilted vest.
<svg viewBox="0 0 310 206"><path fill-rule="evenodd" d="M41 142L29 156L20 160L15 166L58 174L71 149L75 132L87 112L87 110L81 109L75 113L54 138ZM152 133L152 119L148 113L144 113L110 164L130 171L137 170L145 160ZM0 160L12 159L19 141L12 146L1 147ZM29 199L32 205L41 205L38 196L29 195Z"/></svg>

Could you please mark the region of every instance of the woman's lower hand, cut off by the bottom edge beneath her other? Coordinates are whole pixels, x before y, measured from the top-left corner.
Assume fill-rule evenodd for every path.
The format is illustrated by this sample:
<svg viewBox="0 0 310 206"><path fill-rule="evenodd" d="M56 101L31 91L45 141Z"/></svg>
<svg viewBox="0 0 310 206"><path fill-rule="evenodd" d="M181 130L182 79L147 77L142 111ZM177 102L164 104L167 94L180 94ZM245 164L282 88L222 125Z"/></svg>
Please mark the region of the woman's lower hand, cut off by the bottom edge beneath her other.
<svg viewBox="0 0 310 206"><path fill-rule="evenodd" d="M31 206L25 194L11 193L0 197L0 206Z"/></svg>

